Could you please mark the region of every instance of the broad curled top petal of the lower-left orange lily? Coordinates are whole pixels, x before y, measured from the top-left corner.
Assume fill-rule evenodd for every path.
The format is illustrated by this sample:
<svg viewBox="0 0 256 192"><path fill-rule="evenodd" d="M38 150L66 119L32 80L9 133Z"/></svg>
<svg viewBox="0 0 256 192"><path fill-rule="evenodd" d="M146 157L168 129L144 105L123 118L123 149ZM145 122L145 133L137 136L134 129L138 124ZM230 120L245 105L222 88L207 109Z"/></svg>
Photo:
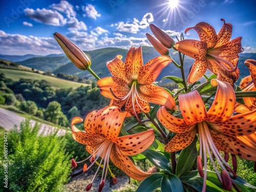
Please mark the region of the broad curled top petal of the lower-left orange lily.
<svg viewBox="0 0 256 192"><path fill-rule="evenodd" d="M126 112L121 112L116 106L106 106L99 112L93 111L87 115L84 129L87 133L96 133L105 139L115 141Z"/></svg>

